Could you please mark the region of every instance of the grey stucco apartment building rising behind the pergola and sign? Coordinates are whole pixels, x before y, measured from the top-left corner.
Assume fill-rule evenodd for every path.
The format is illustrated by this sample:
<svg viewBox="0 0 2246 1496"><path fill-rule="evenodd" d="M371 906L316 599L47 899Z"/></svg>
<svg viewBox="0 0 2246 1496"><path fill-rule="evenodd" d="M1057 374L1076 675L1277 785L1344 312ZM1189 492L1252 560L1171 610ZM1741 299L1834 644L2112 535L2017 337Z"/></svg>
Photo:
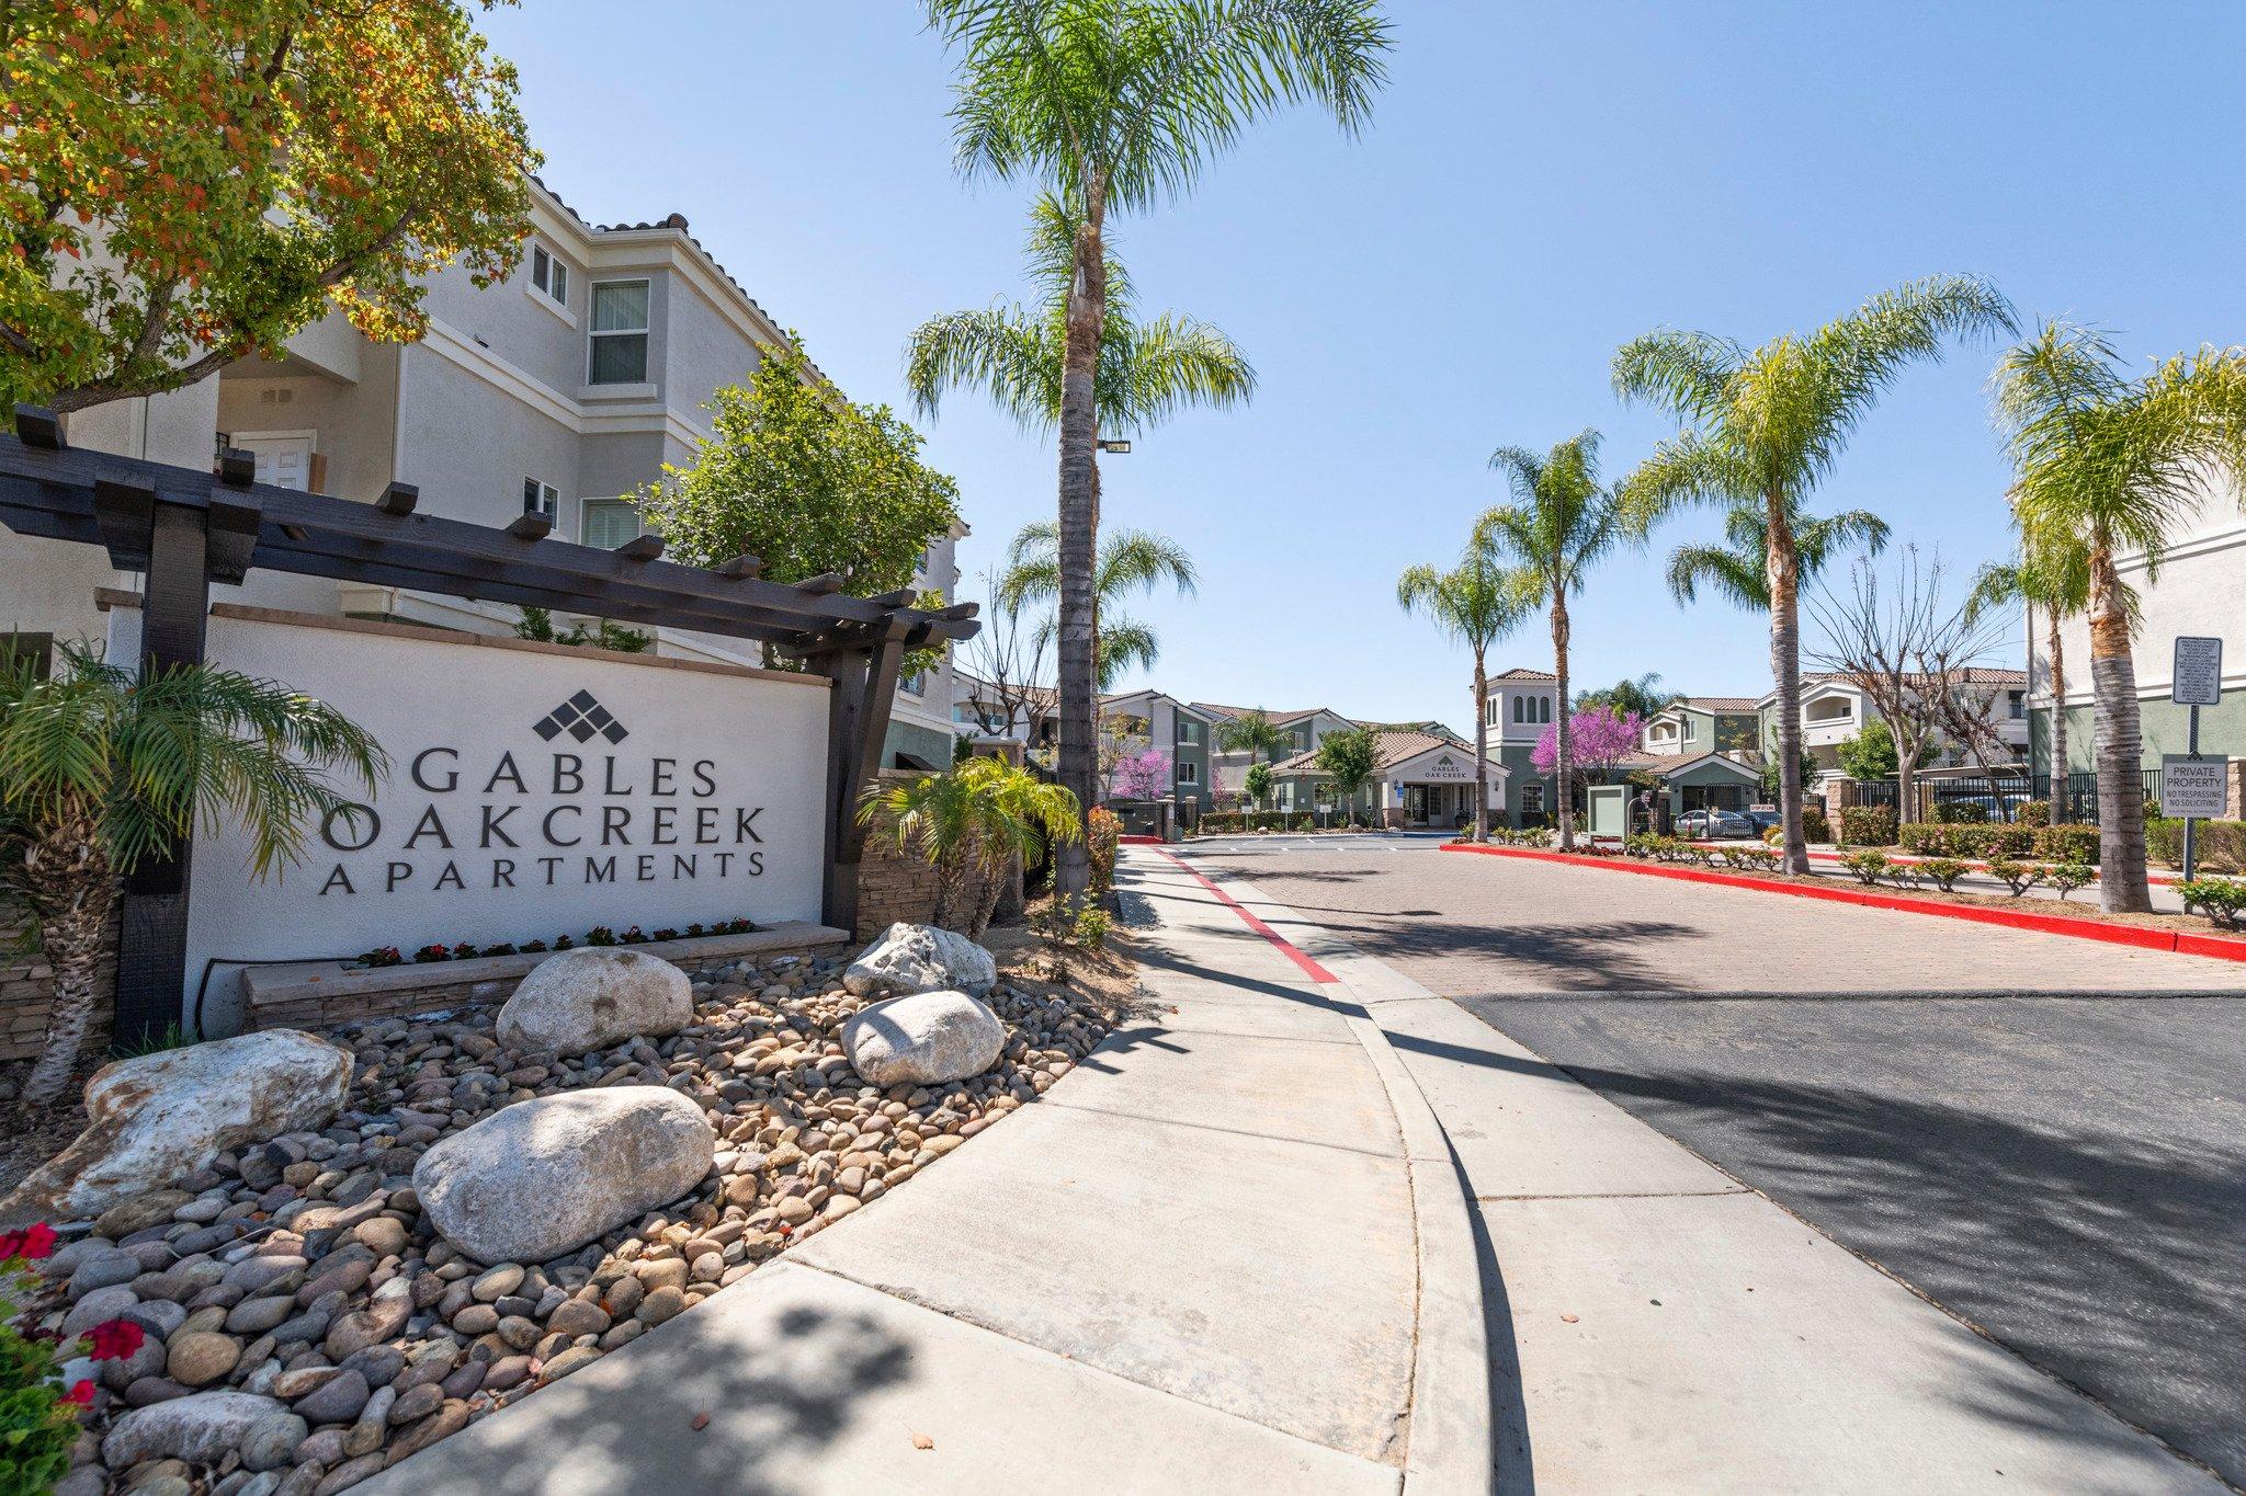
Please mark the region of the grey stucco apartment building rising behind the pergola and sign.
<svg viewBox="0 0 2246 1496"><path fill-rule="evenodd" d="M692 464L710 440L705 404L786 334L672 213L593 224L530 184L532 238L517 271L478 287L460 267L429 278L429 334L371 343L341 316L243 359L193 388L70 417L74 446L204 467L222 446L256 453L261 482L371 502L420 487L420 511L505 525L544 514L557 536L615 547L640 534L622 496ZM955 545L930 545L916 585L959 585ZM94 547L0 532L0 635L18 648L99 639L94 590L133 585ZM18 585L22 579L22 585ZM310 576L252 574L227 601L510 632L517 610ZM755 664L752 646L658 630L656 653ZM946 763L952 666L905 682L885 760Z"/></svg>

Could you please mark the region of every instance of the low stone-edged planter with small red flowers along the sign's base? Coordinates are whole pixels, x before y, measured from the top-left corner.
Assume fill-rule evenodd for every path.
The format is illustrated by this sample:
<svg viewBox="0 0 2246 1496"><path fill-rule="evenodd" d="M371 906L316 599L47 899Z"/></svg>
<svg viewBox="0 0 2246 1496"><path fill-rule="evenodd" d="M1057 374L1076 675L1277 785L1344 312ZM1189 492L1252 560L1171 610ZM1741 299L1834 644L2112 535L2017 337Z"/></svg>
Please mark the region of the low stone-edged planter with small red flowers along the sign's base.
<svg viewBox="0 0 2246 1496"><path fill-rule="evenodd" d="M838 931L831 924L788 922L743 935L647 940L631 949L694 969L741 958L824 953L847 940L849 931ZM335 960L247 967L243 971L245 1027L323 1029L368 1018L407 1018L481 1003L505 1003L514 985L548 955L553 951L469 955L467 960L398 967L348 967Z"/></svg>

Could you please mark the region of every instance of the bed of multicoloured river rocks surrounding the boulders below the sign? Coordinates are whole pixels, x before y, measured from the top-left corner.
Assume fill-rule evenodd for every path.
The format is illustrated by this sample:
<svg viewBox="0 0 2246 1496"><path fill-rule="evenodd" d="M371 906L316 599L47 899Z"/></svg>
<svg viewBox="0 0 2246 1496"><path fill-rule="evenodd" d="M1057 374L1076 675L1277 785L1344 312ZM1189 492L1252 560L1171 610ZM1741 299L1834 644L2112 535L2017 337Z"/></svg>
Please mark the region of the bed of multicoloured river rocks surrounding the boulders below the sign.
<svg viewBox="0 0 2246 1496"><path fill-rule="evenodd" d="M871 1003L840 987L842 964L770 949L687 962L685 1032L577 1056L508 1052L494 1009L332 1032L353 1052L332 1124L54 1222L67 1245L43 1263L36 1321L108 1294L90 1308L150 1326L135 1355L74 1370L99 1391L58 1492L341 1492L692 1310L1035 1101L1107 1036L1132 985L1127 958L1071 951L1076 985L1056 987L1031 946L988 996L1006 1041L986 1074L878 1090L840 1045ZM719 1151L685 1198L541 1263L478 1263L436 1234L413 1189L431 1146L517 1101L615 1086L669 1086L710 1119ZM119 1415L159 1402L189 1415L200 1393L272 1400L249 1453L103 1469Z"/></svg>

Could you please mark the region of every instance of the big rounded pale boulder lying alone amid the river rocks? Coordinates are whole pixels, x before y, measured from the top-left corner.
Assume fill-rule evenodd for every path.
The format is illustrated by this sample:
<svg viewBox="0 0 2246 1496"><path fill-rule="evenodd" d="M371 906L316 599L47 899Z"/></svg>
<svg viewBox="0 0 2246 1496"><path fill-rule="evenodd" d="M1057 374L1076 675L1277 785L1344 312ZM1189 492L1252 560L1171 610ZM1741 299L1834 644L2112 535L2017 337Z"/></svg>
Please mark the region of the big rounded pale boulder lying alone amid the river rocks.
<svg viewBox="0 0 2246 1496"><path fill-rule="evenodd" d="M445 1137L413 1189L478 1263L544 1263L669 1204L716 1155L703 1110L667 1086L535 1097Z"/></svg>

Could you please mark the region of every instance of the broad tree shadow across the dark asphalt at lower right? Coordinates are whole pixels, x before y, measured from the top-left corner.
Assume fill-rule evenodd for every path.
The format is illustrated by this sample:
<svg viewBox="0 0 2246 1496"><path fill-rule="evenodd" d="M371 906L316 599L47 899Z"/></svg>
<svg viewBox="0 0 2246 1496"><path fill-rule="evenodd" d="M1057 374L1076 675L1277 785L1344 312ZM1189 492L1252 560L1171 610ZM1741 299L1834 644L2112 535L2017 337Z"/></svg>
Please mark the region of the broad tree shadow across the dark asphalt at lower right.
<svg viewBox="0 0 2246 1496"><path fill-rule="evenodd" d="M2246 1155L1846 1086L1561 1068L2246 1480ZM1952 1395L2051 1435L2073 1426L2064 1388L1990 1404L1992 1388L1959 1382Z"/></svg>

